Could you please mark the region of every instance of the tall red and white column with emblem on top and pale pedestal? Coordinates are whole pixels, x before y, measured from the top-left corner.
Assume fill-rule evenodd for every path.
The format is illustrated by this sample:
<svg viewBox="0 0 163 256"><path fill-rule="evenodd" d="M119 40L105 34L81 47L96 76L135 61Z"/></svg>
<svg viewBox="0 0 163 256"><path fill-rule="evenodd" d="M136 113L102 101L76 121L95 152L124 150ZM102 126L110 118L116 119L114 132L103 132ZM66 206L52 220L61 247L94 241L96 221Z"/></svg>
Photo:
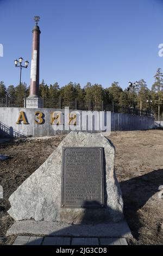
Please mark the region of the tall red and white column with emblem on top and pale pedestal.
<svg viewBox="0 0 163 256"><path fill-rule="evenodd" d="M36 22L33 28L33 42L32 42L32 61L30 71L30 94L26 99L27 108L40 108L42 107L42 99L39 95L39 70L40 70L40 28L37 25L40 17L35 16Z"/></svg>

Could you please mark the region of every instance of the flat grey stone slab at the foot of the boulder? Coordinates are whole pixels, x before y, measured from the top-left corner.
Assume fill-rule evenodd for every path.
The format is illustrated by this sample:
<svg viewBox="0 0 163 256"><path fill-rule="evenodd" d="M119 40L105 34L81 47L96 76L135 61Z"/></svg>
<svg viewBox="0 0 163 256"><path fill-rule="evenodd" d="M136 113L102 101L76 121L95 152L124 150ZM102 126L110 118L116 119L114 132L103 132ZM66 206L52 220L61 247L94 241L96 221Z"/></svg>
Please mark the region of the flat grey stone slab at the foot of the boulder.
<svg viewBox="0 0 163 256"><path fill-rule="evenodd" d="M53 221L17 221L7 231L10 235L47 235L47 236L73 236L73 237L124 237L132 238L126 221L99 223L96 225L72 225L65 222Z"/></svg>

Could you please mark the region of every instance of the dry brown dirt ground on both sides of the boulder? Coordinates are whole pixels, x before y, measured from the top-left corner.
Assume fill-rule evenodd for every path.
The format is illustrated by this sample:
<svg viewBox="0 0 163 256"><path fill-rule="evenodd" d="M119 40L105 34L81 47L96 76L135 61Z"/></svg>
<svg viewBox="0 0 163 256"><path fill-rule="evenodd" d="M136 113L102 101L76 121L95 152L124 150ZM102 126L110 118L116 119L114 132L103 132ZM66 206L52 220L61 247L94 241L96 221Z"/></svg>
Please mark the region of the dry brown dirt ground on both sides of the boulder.
<svg viewBox="0 0 163 256"><path fill-rule="evenodd" d="M126 218L134 239L130 245L163 245L163 131L112 132L116 148L115 169L120 182ZM11 157L0 162L0 236L14 220L7 214L8 198L47 159L64 136L0 142L0 154ZM163 193L163 191L162 191ZM5 239L11 244L15 237ZM1 244L2 242L0 242Z"/></svg>

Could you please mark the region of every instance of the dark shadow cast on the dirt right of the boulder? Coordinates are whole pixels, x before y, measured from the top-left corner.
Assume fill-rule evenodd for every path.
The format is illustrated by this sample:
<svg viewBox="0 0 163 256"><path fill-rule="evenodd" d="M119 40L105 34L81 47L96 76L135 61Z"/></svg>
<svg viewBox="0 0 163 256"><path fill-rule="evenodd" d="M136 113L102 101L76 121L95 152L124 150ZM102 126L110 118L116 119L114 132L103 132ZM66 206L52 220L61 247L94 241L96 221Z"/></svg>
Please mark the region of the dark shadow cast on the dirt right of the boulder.
<svg viewBox="0 0 163 256"><path fill-rule="evenodd" d="M120 182L124 201L124 216L131 232L139 239L139 229L142 227L137 211L151 198L160 185L163 185L163 169Z"/></svg>

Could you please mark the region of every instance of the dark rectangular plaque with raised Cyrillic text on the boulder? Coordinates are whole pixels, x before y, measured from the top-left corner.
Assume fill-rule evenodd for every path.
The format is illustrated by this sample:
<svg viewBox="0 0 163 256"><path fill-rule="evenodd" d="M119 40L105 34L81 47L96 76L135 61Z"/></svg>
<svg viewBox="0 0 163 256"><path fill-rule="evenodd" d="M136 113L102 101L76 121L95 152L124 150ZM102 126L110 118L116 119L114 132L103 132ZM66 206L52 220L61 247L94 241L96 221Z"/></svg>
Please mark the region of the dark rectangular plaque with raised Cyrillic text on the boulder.
<svg viewBox="0 0 163 256"><path fill-rule="evenodd" d="M103 148L63 148L61 207L104 207L103 173Z"/></svg>

